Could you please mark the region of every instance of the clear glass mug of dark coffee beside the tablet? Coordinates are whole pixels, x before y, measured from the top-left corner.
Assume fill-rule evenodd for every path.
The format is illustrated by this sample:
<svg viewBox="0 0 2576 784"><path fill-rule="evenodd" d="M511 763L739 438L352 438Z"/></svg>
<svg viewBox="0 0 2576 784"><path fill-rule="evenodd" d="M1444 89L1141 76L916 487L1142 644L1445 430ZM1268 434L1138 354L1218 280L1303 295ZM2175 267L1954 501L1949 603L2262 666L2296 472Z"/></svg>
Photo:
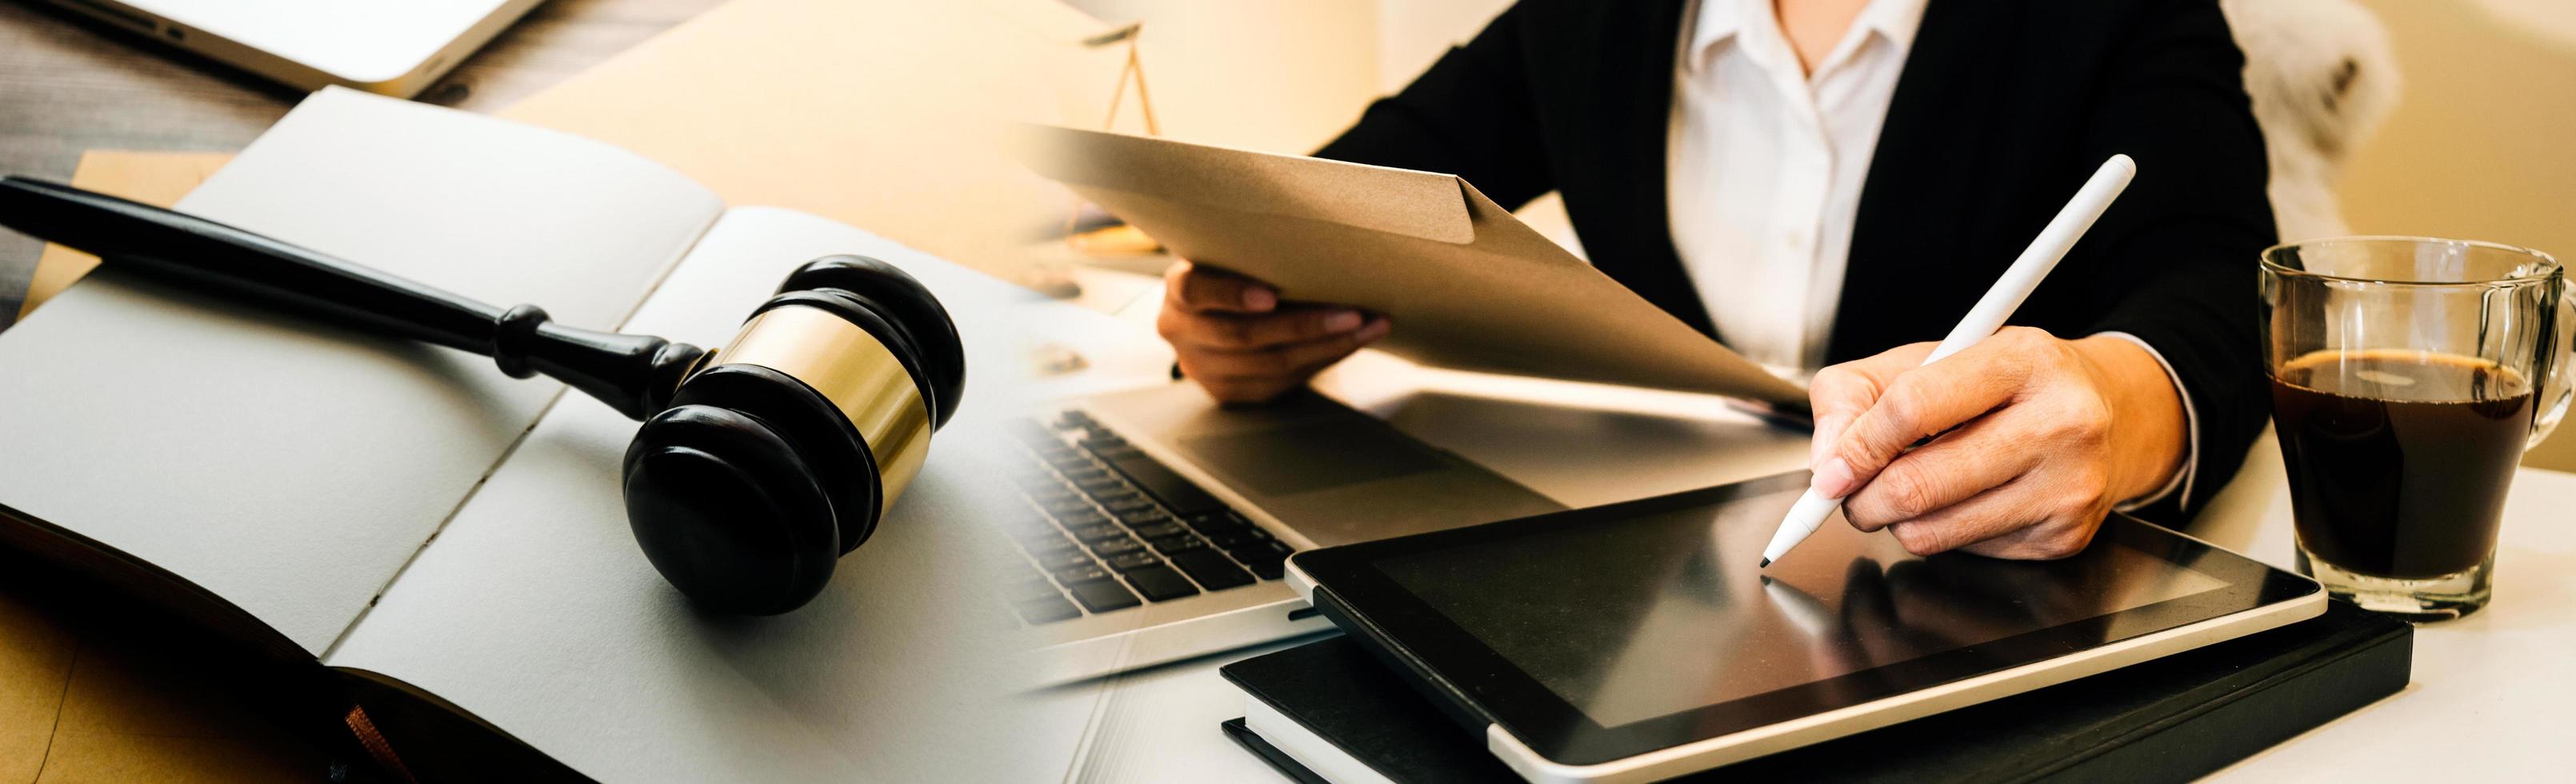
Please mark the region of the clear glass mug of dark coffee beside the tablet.
<svg viewBox="0 0 2576 784"><path fill-rule="evenodd" d="M2262 320L2298 570L2414 622L2486 606L2514 467L2568 410L2558 260L2429 237L2277 245Z"/></svg>

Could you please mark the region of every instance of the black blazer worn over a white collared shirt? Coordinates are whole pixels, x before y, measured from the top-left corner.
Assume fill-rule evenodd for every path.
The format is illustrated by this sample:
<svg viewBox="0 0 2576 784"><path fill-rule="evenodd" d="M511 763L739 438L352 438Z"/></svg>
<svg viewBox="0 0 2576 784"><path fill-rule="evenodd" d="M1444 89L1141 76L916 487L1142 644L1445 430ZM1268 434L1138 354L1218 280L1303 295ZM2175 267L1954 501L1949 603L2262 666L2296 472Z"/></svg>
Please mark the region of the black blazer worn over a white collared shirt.
<svg viewBox="0 0 2576 784"><path fill-rule="evenodd" d="M1316 155L1455 173L1502 206L1558 191L1602 273L1716 335L1664 214L1682 10L1522 0ZM1929 3L1860 191L1826 361L1940 340L2128 152L2138 178L2012 322L2156 346L2197 415L2197 508L2269 400L2254 258L2275 230L2241 72L2215 0Z"/></svg>

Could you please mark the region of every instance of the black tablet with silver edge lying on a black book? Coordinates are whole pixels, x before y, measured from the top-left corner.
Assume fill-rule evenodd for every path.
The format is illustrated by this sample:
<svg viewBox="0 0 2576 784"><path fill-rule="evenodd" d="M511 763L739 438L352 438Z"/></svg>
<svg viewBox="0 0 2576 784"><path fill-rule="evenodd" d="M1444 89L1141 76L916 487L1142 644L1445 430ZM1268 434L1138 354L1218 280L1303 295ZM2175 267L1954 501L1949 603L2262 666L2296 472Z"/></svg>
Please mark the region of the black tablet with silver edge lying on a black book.
<svg viewBox="0 0 2576 784"><path fill-rule="evenodd" d="M1649 781L2311 619L2316 580L2110 516L2076 557L1914 557L1806 472L1298 552L1291 583L1530 781Z"/></svg>

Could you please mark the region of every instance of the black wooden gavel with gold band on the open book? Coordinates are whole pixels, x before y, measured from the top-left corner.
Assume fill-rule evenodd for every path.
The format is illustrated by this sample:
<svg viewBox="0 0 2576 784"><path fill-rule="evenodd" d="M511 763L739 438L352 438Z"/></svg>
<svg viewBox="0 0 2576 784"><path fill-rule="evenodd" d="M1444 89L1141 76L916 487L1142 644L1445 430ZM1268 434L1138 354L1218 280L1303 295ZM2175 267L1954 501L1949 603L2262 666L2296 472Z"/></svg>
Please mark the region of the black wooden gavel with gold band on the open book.
<svg viewBox="0 0 2576 784"><path fill-rule="evenodd" d="M690 601L783 614L868 542L956 415L966 353L902 268L824 255L788 273L732 343L556 325L211 219L0 175L0 227L106 266L319 322L489 356L641 420L626 521Z"/></svg>

